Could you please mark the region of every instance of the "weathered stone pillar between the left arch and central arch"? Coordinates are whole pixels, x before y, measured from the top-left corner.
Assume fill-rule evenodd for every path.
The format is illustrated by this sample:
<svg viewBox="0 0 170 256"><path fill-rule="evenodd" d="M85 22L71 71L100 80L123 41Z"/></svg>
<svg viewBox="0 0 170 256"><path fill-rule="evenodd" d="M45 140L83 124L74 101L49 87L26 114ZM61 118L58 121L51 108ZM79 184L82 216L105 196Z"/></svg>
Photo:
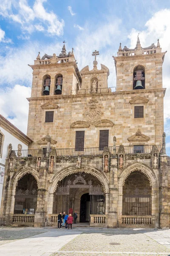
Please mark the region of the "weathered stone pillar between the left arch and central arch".
<svg viewBox="0 0 170 256"><path fill-rule="evenodd" d="M45 157L43 160L41 160L34 227L45 227L48 222L48 164L48 157Z"/></svg>

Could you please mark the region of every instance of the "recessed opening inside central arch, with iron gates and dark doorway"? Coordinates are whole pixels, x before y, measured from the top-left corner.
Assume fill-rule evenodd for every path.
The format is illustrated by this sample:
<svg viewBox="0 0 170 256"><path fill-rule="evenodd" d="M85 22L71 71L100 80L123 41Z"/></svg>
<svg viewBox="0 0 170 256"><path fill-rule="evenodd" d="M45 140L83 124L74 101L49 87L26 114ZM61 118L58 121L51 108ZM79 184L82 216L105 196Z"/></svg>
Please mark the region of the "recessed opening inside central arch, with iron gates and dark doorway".
<svg viewBox="0 0 170 256"><path fill-rule="evenodd" d="M53 197L53 214L77 211L78 221L90 221L90 215L105 215L105 191L92 174L78 172L60 180Z"/></svg>

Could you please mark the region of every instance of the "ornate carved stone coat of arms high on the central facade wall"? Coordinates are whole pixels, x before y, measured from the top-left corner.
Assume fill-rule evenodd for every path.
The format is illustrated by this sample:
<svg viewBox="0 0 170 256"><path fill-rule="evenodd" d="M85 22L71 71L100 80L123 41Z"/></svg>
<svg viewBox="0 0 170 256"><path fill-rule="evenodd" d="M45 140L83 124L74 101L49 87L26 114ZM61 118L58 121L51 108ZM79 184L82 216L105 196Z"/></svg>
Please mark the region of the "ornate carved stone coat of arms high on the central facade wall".
<svg viewBox="0 0 170 256"><path fill-rule="evenodd" d="M98 104L98 101L92 98L85 107L85 113L83 116L87 120L87 122L94 125L94 123L101 119L103 115L101 111L101 106Z"/></svg>

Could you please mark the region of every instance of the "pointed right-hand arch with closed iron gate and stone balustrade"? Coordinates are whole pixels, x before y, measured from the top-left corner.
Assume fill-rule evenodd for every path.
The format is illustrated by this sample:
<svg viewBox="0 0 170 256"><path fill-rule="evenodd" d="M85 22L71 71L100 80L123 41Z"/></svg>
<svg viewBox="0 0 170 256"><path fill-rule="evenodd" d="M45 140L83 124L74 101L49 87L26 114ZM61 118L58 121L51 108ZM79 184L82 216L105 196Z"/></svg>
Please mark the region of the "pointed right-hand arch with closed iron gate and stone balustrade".
<svg viewBox="0 0 170 256"><path fill-rule="evenodd" d="M159 227L159 191L155 173L146 165L133 163L119 174L119 227Z"/></svg>

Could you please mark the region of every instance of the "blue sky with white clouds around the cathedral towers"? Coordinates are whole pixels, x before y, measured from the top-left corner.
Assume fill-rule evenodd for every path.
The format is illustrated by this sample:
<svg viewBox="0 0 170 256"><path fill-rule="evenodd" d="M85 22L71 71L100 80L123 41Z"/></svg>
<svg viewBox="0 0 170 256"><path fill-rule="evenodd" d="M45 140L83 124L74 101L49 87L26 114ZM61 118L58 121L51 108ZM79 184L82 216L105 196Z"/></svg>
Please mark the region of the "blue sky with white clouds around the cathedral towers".
<svg viewBox="0 0 170 256"><path fill-rule="evenodd" d="M40 51L57 55L62 41L67 51L74 47L79 70L92 67L91 53L97 49L98 63L110 70L109 86L115 86L112 55L119 43L142 47L159 42L170 48L170 2L166 0L0 0L0 113L26 133L33 64ZM170 134L170 53L163 64L165 132ZM167 136L170 155L170 136Z"/></svg>

